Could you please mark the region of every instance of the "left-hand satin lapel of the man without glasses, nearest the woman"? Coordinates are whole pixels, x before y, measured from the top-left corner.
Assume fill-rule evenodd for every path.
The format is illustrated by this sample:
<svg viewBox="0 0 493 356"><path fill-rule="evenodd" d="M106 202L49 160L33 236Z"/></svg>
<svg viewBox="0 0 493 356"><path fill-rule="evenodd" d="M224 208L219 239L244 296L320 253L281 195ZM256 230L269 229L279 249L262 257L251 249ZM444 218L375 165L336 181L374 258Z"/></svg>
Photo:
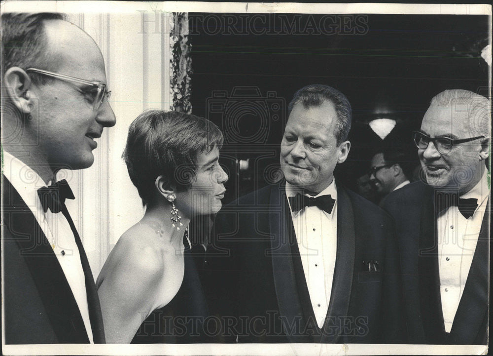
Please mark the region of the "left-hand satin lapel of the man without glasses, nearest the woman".
<svg viewBox="0 0 493 356"><path fill-rule="evenodd" d="M284 186L273 186L269 197L269 225L272 256L272 273L282 325L290 342L312 342L302 331L306 321L298 295L291 244L296 243L291 212L287 206ZM294 239L293 239L294 238Z"/></svg>

